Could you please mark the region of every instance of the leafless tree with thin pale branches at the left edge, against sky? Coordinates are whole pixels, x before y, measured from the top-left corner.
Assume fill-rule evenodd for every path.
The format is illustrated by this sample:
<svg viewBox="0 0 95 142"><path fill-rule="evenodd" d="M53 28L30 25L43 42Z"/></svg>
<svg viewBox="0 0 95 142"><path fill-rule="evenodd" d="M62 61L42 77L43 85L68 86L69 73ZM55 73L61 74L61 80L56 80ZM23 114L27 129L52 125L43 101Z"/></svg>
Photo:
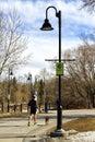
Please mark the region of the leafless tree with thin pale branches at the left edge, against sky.
<svg viewBox="0 0 95 142"><path fill-rule="evenodd" d="M8 68L17 68L26 62L26 57L23 57L26 45L17 12L0 12L0 74Z"/></svg>

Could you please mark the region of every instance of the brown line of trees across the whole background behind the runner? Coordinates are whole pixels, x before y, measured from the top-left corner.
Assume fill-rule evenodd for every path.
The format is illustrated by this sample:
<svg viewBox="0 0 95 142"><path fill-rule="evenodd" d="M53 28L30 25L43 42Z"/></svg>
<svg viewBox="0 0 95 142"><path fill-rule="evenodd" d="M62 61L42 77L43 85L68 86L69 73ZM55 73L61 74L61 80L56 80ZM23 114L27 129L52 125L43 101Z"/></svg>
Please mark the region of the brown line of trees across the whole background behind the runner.
<svg viewBox="0 0 95 142"><path fill-rule="evenodd" d="M67 50L63 55L75 58L74 62L64 62L64 74L62 76L62 106L63 108L90 108L95 107L95 45L82 45L79 48ZM38 94L38 106L45 103L57 106L58 76L48 76L44 69L43 75L35 78L34 83L17 82L15 78L10 80L11 103L27 103L31 93ZM32 85L32 87L31 87ZM0 100L7 100L9 80L0 83ZM4 97L4 98L3 98Z"/></svg>

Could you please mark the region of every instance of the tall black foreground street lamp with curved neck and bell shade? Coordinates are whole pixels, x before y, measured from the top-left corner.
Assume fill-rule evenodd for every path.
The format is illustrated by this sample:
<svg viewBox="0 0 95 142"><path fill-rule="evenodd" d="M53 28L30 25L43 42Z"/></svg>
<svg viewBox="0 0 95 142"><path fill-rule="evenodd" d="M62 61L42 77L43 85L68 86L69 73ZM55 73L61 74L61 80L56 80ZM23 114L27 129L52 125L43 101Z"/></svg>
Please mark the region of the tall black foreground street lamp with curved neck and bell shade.
<svg viewBox="0 0 95 142"><path fill-rule="evenodd" d="M61 11L57 11L55 7L48 7L46 9L46 19L44 21L43 26L40 27L41 31L52 31L54 27L49 23L48 20L48 10L52 8L56 11L56 17L58 17L58 25L59 25L59 63L61 62ZM62 106L61 106L61 74L59 74L59 98L58 98L58 113L57 113L57 130L51 132L51 137L62 137L64 130L61 128L62 126Z"/></svg>

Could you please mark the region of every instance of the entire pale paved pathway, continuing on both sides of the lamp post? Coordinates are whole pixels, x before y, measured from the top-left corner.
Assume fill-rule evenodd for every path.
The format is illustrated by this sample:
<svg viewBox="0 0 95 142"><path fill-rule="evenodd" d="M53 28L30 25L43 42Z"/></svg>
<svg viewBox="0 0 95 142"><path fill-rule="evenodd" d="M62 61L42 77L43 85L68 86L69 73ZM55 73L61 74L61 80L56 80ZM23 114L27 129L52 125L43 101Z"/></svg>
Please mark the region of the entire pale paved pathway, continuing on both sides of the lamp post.
<svg viewBox="0 0 95 142"><path fill-rule="evenodd" d="M64 110L63 121L71 120L79 117L95 116L94 109L83 110ZM50 118L49 125L45 125L45 117ZM0 119L0 142L32 142L40 139L41 134L51 127L57 126L57 111L49 111L48 114L39 114L37 125L31 122L27 127L27 117L3 118Z"/></svg>

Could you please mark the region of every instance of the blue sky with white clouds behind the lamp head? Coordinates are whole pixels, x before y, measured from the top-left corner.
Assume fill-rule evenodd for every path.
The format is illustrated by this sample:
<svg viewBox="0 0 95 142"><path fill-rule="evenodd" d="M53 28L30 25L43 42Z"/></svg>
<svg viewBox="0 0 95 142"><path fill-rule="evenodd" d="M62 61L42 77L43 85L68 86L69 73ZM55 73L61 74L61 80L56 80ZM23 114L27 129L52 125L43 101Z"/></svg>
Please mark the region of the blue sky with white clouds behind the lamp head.
<svg viewBox="0 0 95 142"><path fill-rule="evenodd" d="M95 14L88 13L82 7L81 0L0 0L0 9L7 12L9 9L16 9L23 21L25 36L28 38L27 52L32 52L32 60L25 67L20 68L19 75L32 73L33 76L39 74L46 68L50 71L50 63L45 59L58 57L59 37L58 19L54 9L48 10L48 19L54 26L54 31L44 32L41 27L46 17L46 9L49 5L61 11L61 50L76 48L82 44L81 36L86 36L94 32Z"/></svg>

